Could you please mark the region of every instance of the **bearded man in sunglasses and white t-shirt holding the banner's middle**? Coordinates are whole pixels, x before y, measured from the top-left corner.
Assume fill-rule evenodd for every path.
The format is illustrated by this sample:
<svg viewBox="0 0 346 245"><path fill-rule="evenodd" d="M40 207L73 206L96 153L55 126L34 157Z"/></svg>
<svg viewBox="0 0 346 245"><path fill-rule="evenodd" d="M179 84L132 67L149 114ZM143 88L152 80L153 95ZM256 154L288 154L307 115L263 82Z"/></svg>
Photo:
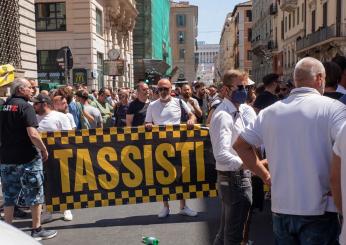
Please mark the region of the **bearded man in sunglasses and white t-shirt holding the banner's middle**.
<svg viewBox="0 0 346 245"><path fill-rule="evenodd" d="M196 122L196 117L191 112L186 103L177 98L171 97L172 84L168 79L161 79L158 84L160 99L151 102L148 106L147 115L145 117L145 127L151 129L153 124L168 125L180 124L182 109L188 114L188 127ZM163 209L158 214L159 218L165 218L169 215L170 209L168 202L163 202ZM186 206L185 200L180 200L181 215L196 216L197 212Z"/></svg>

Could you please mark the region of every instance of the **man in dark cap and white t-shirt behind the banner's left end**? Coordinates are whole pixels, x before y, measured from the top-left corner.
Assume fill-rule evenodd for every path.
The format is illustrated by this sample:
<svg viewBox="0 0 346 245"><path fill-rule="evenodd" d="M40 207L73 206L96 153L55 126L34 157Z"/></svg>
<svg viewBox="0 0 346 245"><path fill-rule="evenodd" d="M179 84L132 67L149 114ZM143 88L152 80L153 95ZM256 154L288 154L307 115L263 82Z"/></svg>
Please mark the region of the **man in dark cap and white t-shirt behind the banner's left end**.
<svg viewBox="0 0 346 245"><path fill-rule="evenodd" d="M72 125L68 116L62 112L52 110L52 100L49 96L39 94L32 99L34 102L34 109L37 113L38 121L38 131L39 132L53 132L53 131L63 131L72 130ZM66 102L67 106L67 102ZM42 222L48 222L52 219L50 213L44 213L42 217ZM73 215L70 210L64 211L64 220L71 221Z"/></svg>

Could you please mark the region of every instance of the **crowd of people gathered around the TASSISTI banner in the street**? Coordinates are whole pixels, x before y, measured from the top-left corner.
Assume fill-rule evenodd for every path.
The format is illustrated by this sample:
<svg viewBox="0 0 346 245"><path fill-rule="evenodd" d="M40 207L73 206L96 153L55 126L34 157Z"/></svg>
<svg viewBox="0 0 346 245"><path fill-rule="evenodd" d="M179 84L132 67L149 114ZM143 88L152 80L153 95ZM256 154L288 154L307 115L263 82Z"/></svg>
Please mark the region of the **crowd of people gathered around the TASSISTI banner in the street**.
<svg viewBox="0 0 346 245"><path fill-rule="evenodd" d="M0 103L5 221L12 223L21 193L31 207L32 236L57 234L41 227L48 152L39 132L198 123L210 128L222 203L214 245L248 244L252 210L263 208L264 183L271 186L277 244L346 244L345 228L338 240L346 210L345 88L343 56L324 63L304 58L286 82L268 74L256 84L246 73L229 70L221 84L210 86L197 81L173 89L163 78L155 86L140 81L135 90L39 91L36 81L16 79ZM32 176L36 181L26 183ZM164 202L158 217L169 214ZM185 200L179 214L198 215ZM73 219L71 211L64 219Z"/></svg>

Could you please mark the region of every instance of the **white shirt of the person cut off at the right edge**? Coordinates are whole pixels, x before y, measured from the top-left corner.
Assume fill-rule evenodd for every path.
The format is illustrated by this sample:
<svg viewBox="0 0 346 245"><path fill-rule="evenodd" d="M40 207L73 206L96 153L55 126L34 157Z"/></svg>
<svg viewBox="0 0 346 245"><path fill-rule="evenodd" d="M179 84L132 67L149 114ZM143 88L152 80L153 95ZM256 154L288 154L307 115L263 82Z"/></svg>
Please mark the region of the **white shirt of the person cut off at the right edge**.
<svg viewBox="0 0 346 245"><path fill-rule="evenodd" d="M346 216L346 124L336 136L333 147L334 153L341 158L341 194L342 212ZM340 235L340 244L346 244L346 224L344 223Z"/></svg>

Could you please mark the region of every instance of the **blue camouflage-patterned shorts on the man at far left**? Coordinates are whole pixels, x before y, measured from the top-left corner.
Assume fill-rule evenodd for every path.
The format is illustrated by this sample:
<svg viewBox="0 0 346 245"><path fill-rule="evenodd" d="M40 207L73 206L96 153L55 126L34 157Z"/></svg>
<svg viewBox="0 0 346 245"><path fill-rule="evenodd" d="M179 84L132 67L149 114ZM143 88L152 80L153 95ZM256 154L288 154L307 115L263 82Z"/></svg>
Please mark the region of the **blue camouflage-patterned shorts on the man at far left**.
<svg viewBox="0 0 346 245"><path fill-rule="evenodd" d="M0 170L5 207L18 205L21 197L25 206L44 203L41 158L18 165L2 163Z"/></svg>

